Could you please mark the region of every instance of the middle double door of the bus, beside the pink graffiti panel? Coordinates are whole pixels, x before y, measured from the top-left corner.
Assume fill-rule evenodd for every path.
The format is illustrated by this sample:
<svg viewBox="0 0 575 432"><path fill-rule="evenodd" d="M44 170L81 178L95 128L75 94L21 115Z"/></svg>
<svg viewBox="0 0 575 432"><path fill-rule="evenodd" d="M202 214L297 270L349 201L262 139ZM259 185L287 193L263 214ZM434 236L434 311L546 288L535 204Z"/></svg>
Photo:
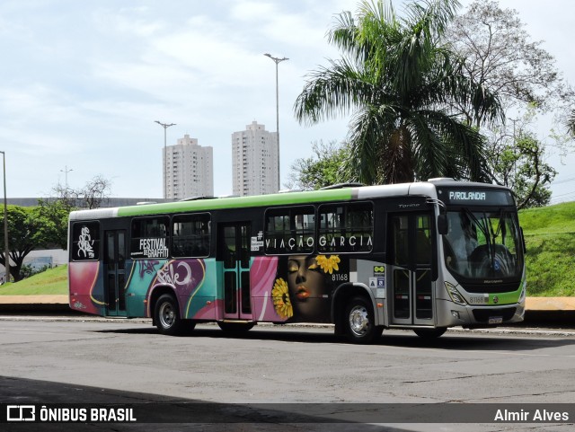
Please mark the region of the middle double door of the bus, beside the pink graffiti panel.
<svg viewBox="0 0 575 432"><path fill-rule="evenodd" d="M250 223L219 227L218 256L223 260L224 319L252 320Z"/></svg>

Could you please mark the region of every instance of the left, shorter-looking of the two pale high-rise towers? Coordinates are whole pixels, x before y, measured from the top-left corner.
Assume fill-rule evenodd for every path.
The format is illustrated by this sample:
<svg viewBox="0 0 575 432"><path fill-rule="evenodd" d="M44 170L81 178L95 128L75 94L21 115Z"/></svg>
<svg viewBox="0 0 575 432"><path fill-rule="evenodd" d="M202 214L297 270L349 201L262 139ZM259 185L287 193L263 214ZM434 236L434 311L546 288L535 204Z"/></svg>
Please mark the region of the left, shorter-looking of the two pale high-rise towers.
<svg viewBox="0 0 575 432"><path fill-rule="evenodd" d="M164 184L169 199L214 195L214 149L198 145L198 139L184 135L178 144L166 147Z"/></svg>

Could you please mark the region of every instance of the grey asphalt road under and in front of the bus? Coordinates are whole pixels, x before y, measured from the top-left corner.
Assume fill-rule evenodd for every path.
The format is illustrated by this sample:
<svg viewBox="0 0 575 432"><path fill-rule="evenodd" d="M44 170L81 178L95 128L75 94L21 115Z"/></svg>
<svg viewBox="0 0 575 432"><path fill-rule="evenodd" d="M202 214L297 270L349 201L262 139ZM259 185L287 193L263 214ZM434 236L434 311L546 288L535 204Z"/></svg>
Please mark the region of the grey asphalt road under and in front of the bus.
<svg viewBox="0 0 575 432"><path fill-rule="evenodd" d="M166 412L155 412L160 417L177 417L173 404L184 404L187 418L200 423L76 424L70 430L299 431L361 426L360 430L397 431L567 431L575 419L574 360L573 330L447 331L433 342L410 331L385 331L378 343L358 346L342 343L331 329L314 327L258 326L244 335L229 335L215 325L199 325L190 335L173 338L141 320L4 317L0 403L146 402L154 410L157 404L164 406ZM205 402L217 404L198 405ZM461 411L455 418L446 412L446 402ZM473 407L496 410L510 403L516 410L557 408L568 412L570 421L473 421ZM266 404L265 415L249 404ZM434 417L430 404L439 404L445 423ZM414 419L403 421L400 415L401 421L385 427L358 425L353 416L338 418L342 422L337 425L323 418L326 410L395 406L414 413L420 407L419 417L414 414ZM282 407L288 407L288 414ZM146 414L139 410L140 419ZM362 415L370 423L385 423L381 416ZM286 425L290 421L294 423ZM429 422L441 423L440 428ZM62 424L0 424L0 429L62 430Z"/></svg>

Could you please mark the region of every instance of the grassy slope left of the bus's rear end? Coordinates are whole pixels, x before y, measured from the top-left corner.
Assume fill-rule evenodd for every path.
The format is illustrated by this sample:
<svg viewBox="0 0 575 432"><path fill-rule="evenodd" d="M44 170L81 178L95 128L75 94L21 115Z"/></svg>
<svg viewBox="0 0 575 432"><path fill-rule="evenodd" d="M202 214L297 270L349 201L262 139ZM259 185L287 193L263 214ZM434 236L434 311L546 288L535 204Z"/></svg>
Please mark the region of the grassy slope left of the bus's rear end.
<svg viewBox="0 0 575 432"><path fill-rule="evenodd" d="M58 266L20 282L0 286L0 295L67 295L68 266Z"/></svg>

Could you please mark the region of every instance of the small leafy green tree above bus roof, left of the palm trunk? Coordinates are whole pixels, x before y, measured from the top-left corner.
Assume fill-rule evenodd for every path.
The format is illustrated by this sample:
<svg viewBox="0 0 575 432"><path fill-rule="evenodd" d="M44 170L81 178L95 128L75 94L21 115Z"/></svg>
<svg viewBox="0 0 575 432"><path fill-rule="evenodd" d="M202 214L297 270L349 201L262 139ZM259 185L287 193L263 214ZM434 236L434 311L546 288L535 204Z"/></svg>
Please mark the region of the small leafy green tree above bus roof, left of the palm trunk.
<svg viewBox="0 0 575 432"><path fill-rule="evenodd" d="M296 159L289 174L290 189L318 190L325 186L348 181L341 169L349 159L349 146L338 145L335 141L328 144L314 142L313 155Z"/></svg>

